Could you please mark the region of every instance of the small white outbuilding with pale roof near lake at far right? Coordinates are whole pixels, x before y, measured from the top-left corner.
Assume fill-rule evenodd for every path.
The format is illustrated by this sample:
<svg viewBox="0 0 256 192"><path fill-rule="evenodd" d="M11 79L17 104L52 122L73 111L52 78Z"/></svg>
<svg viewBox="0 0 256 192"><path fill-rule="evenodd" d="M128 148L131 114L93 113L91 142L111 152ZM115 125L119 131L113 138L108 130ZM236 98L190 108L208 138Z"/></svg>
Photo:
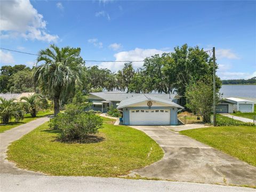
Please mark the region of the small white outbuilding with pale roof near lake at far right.
<svg viewBox="0 0 256 192"><path fill-rule="evenodd" d="M240 98L226 98L226 101L234 104L234 110L253 113L254 111L254 102L246 99Z"/></svg>

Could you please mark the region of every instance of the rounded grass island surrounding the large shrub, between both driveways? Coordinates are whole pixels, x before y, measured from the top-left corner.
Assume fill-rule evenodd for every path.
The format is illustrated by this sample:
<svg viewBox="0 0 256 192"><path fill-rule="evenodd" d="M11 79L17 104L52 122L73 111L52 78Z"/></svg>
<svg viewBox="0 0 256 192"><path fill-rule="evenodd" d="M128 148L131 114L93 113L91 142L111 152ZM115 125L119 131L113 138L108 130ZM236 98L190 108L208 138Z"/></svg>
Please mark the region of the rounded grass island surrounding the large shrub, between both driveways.
<svg viewBox="0 0 256 192"><path fill-rule="evenodd" d="M118 177L163 157L163 150L145 133L114 126L103 118L96 143L63 143L45 123L9 147L8 159L23 169L50 175Z"/></svg>

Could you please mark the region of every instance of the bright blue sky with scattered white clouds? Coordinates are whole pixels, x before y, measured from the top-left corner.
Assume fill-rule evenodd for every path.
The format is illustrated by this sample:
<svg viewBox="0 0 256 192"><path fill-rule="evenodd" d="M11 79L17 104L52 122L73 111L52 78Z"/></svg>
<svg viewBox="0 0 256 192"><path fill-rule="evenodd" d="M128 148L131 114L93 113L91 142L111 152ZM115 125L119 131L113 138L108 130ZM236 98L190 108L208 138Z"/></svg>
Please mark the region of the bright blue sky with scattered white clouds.
<svg viewBox="0 0 256 192"><path fill-rule="evenodd" d="M1 1L1 47L81 47L84 60L143 60L187 43L216 49L221 79L256 76L256 1ZM0 50L0 65L35 55ZM142 62L134 62L135 68ZM86 62L117 71L123 62Z"/></svg>

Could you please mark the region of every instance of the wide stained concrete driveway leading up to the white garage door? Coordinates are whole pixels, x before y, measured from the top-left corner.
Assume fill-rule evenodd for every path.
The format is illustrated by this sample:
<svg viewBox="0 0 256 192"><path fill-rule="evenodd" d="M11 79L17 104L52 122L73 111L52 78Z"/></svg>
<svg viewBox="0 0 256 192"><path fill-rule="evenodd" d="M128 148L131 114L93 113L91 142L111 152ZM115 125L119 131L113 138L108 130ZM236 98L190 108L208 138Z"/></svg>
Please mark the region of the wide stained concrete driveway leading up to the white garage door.
<svg viewBox="0 0 256 192"><path fill-rule="evenodd" d="M164 150L160 161L134 170L133 174L173 181L256 186L256 167L171 131L170 126L131 127L145 132Z"/></svg>

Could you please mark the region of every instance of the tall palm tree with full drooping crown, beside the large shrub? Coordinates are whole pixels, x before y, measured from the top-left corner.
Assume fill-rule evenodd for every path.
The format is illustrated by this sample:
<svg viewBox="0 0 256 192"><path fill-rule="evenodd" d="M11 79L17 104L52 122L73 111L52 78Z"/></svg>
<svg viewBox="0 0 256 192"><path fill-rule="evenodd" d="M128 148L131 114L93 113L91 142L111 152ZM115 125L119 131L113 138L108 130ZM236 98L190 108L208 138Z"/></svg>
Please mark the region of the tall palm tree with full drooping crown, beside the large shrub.
<svg viewBox="0 0 256 192"><path fill-rule="evenodd" d="M59 48L54 44L39 51L34 71L34 82L44 95L54 102L54 116L60 112L60 100L74 93L75 85L80 82L82 65L80 48ZM42 63L43 62L43 63Z"/></svg>

